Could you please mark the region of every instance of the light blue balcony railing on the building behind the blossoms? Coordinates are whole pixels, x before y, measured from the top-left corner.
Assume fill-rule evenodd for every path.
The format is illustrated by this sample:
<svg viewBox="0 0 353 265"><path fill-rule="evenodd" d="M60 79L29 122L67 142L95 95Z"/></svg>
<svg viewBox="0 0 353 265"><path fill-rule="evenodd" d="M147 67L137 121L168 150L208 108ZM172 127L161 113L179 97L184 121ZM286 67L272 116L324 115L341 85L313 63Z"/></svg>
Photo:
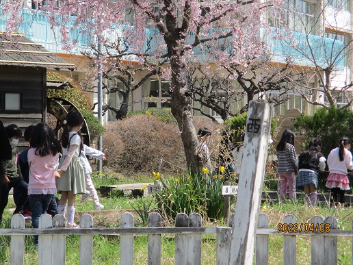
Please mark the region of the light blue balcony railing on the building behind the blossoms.
<svg viewBox="0 0 353 265"><path fill-rule="evenodd" d="M55 53L73 53L80 54L82 51L88 49L95 40L92 40L88 37L88 34L82 34L79 29L74 27L75 25L75 16L71 16L70 21L66 23L70 31L70 42L75 43L73 49L70 51L64 50L64 45L60 42L61 33L60 26L51 27L47 16L43 12L32 12L26 8L23 9L23 23L21 23L19 28L19 33L24 33L27 38L30 40L39 43L49 51ZM0 9L0 31L5 30L5 21L6 16L1 15ZM115 41L118 36L121 36L120 29L117 28L115 31L107 33L107 37ZM146 29L146 37L155 34L155 31L152 29ZM274 62L285 62L287 55L291 55L294 63L302 66L313 66L313 58L315 58L317 64L322 67L330 64L332 58L337 57L337 62L335 68L337 70L343 69L345 66L344 53L342 49L344 45L339 40L332 40L329 38L322 38L319 36L302 34L299 32L291 32L293 40L297 43L297 47L292 47L289 45L289 38L286 41L285 38L272 38L270 34L263 34L265 39L267 39L267 45L272 51L271 60ZM156 35L158 36L158 35ZM271 36L271 37L270 37ZM194 35L189 34L187 39L187 44L192 43L194 40ZM163 39L159 36L151 42L151 52L155 51L157 47L163 42ZM309 46L308 43L311 45ZM153 47L155 45L155 47ZM147 45L145 45L147 47ZM230 51L231 47L226 48L226 51ZM302 51L302 52L300 52ZM195 60L200 61L209 61L209 51L206 49L201 49L196 47L193 49ZM341 54L339 54L341 53ZM134 57L130 57L129 60L134 60Z"/></svg>

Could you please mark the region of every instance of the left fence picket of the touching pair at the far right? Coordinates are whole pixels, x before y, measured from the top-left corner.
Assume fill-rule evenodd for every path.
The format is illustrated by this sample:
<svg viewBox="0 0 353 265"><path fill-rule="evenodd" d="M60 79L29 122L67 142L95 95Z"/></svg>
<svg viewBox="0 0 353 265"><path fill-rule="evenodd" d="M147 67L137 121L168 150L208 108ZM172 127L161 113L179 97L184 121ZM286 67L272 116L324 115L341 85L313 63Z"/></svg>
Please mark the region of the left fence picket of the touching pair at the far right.
<svg viewBox="0 0 353 265"><path fill-rule="evenodd" d="M321 216L315 215L311 218L313 228L322 223L324 223L324 219ZM322 236L311 236L311 264L325 264L324 249L324 234Z"/></svg>

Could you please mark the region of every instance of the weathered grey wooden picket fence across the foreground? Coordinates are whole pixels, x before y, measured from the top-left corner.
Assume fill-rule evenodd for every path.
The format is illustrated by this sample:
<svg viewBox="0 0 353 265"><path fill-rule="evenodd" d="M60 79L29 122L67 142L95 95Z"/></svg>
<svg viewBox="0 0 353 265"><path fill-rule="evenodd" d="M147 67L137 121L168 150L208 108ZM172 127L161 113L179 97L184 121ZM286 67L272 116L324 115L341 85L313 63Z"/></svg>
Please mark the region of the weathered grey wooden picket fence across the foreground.
<svg viewBox="0 0 353 265"><path fill-rule="evenodd" d="M230 223L232 223L231 216ZM201 227L199 214L178 214L176 227L161 227L161 216L151 213L148 227L134 227L133 216L125 213L120 228L93 228L93 218L81 216L80 229L64 229L66 220L58 214L53 219L48 214L40 216L40 228L25 228L22 215L15 214L12 229L0 229L0 235L11 236L10 263L23 265L25 235L39 235L38 264L65 264L66 235L79 235L79 264L93 264L93 235L120 235L119 264L133 264L134 235L148 236L148 264L161 264L161 234L175 235L175 264L201 264L202 234L216 235L217 264L228 264L231 251L231 227ZM235 227L235 233L236 233ZM279 231L278 231L279 230ZM298 224L287 215L276 229L268 228L268 218L259 215L256 235L256 264L268 264L269 236L283 234L283 264L296 264L297 236L311 236L311 264L337 264L337 237L353 236L353 230L337 230L337 220L314 216L310 223ZM352 246L353 248L353 246ZM353 262L352 262L353 264Z"/></svg>

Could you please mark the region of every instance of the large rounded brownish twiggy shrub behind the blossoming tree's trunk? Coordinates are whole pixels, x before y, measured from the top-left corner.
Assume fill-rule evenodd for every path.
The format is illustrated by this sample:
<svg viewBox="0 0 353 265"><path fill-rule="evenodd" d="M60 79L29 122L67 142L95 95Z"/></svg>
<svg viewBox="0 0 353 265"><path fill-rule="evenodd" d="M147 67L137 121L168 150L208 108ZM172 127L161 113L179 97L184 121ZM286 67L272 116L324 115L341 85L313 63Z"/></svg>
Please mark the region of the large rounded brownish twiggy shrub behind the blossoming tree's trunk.
<svg viewBox="0 0 353 265"><path fill-rule="evenodd" d="M195 125L215 129L215 125L205 118L195 118ZM108 123L103 148L107 165L121 173L151 173L158 168L160 158L165 161L163 172L175 173L185 168L177 124L161 121L153 115L133 115Z"/></svg>

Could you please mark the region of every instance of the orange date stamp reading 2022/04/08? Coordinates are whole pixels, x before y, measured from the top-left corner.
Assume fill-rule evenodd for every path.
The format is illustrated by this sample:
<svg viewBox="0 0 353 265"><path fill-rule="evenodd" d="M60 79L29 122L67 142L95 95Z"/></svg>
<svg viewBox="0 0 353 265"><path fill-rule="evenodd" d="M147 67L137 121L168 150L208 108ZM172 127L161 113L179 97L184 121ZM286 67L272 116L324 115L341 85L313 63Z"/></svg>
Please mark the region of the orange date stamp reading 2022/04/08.
<svg viewBox="0 0 353 265"><path fill-rule="evenodd" d="M278 223L278 233L328 233L331 231L330 224L309 224L309 223Z"/></svg>

